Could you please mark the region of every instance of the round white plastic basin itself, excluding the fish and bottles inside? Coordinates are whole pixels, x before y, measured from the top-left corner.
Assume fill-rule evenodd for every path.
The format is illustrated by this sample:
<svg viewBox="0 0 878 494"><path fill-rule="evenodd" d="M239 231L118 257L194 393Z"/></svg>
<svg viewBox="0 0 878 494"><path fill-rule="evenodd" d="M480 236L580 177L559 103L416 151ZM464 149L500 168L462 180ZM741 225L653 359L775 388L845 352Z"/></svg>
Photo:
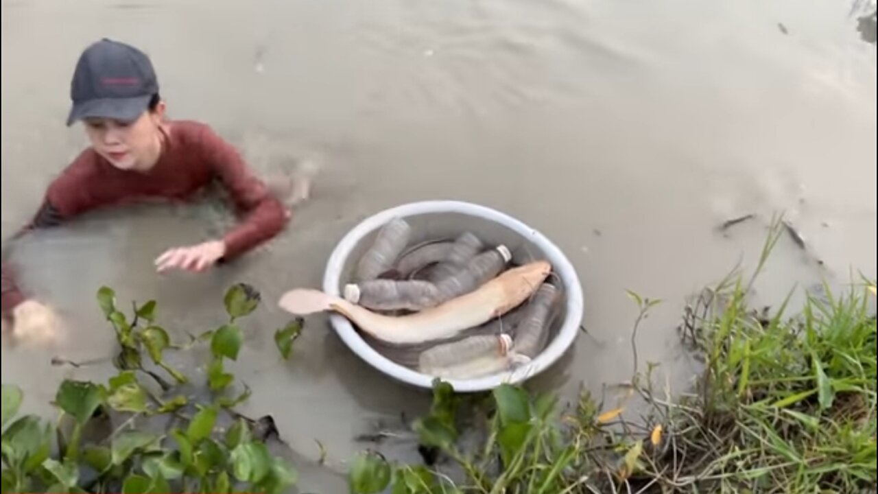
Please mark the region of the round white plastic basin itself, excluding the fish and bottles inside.
<svg viewBox="0 0 878 494"><path fill-rule="evenodd" d="M508 214L490 207L456 200L427 200L391 207L374 214L356 225L335 246L327 261L323 277L323 290L327 294L340 295L344 284L352 277L357 260L368 249L374 236L393 217L405 218L412 225L411 243L422 240L454 237L471 231L486 243L504 243L513 252L513 262L529 258L545 258L551 262L564 289L563 313L551 329L548 345L529 364L500 374L478 379L448 379L457 392L476 392L493 389L500 384L520 383L540 374L550 367L572 345L579 334L582 320L582 287L579 277L564 253L536 229L516 220ZM555 280L557 283L558 280ZM421 374L386 358L360 337L354 326L344 316L332 314L329 321L335 332L361 359L392 378L414 386L429 389L434 377Z"/></svg>

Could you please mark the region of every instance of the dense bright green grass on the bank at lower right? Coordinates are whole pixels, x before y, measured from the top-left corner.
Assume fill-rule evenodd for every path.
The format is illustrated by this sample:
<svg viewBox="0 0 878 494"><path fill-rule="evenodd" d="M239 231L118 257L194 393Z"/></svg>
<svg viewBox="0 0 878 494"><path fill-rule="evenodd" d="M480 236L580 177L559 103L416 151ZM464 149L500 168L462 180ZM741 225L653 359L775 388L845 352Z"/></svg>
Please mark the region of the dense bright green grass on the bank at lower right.
<svg viewBox="0 0 878 494"><path fill-rule="evenodd" d="M674 444L645 475L680 491L874 485L875 322L865 287L764 317L736 285L722 314L690 336L707 368L697 394L669 407Z"/></svg>

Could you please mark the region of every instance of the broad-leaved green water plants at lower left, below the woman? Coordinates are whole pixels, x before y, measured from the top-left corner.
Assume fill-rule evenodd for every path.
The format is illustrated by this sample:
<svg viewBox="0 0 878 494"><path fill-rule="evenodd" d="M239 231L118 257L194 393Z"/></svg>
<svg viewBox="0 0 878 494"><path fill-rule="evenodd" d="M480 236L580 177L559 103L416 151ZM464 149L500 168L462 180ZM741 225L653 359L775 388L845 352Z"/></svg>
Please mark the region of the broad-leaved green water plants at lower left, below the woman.
<svg viewBox="0 0 878 494"><path fill-rule="evenodd" d="M4 383L4 494L279 493L296 483L296 470L271 453L255 421L234 411L250 391L246 385L235 389L225 364L240 355L239 324L259 305L255 289L241 283L229 288L228 322L184 345L173 343L157 323L155 301L134 304L126 316L112 289L102 287L97 302L119 342L113 359L118 372L106 383L62 381L53 403L61 417L54 424L19 415L25 394ZM301 321L278 331L284 358L300 331ZM199 343L210 350L201 393L199 383L167 360L170 351Z"/></svg>

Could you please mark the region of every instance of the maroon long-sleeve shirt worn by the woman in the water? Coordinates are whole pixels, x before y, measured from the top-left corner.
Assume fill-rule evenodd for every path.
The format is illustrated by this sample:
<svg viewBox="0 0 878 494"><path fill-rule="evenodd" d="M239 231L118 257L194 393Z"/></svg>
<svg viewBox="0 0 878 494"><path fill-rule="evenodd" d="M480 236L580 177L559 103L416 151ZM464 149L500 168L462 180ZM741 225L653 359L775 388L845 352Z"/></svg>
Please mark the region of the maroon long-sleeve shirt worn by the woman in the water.
<svg viewBox="0 0 878 494"><path fill-rule="evenodd" d="M49 185L40 210L17 236L59 225L97 207L155 198L189 200L214 178L225 185L235 207L244 214L243 222L223 238L226 254L222 261L240 256L284 228L288 220L284 206L211 127L176 120L167 128L162 156L146 173L119 170L94 149L84 150ZM28 297L5 260L2 283L2 312L8 316Z"/></svg>

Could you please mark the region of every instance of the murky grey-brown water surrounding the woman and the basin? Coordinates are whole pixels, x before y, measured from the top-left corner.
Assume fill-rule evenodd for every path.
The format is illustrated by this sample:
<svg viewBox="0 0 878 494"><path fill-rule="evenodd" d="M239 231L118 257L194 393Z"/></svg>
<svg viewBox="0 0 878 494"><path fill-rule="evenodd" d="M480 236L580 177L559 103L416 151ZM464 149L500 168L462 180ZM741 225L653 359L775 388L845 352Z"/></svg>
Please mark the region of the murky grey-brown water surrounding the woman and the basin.
<svg viewBox="0 0 878 494"><path fill-rule="evenodd" d="M630 377L636 309L625 289L661 298L639 335L674 389L690 363L674 328L684 298L743 259L786 211L802 251L781 238L757 285L779 300L794 283L875 276L876 65L858 18L838 0L581 2L380 0L368 4L205 0L3 1L3 237L33 213L48 181L84 145L68 129L76 56L109 36L143 47L169 113L210 122L269 171L318 156L313 198L283 236L234 267L157 276L163 249L227 220L212 207L134 207L34 236L17 250L24 282L68 323L56 349L3 349L3 381L49 413L66 376L104 380L109 363L51 367L61 354L112 352L97 316L102 284L121 301L159 301L169 330L219 324L237 280L266 300L235 366L244 407L272 414L303 459L306 489L344 489L354 436L425 410L428 395L366 366L322 319L283 362L272 333L290 287L320 286L341 236L365 215L412 200L471 200L554 240L579 271L583 333L530 385L575 396ZM279 157L278 157L279 156ZM720 223L756 214L725 233ZM817 260L823 265L818 265ZM319 440L327 469L315 468Z"/></svg>

